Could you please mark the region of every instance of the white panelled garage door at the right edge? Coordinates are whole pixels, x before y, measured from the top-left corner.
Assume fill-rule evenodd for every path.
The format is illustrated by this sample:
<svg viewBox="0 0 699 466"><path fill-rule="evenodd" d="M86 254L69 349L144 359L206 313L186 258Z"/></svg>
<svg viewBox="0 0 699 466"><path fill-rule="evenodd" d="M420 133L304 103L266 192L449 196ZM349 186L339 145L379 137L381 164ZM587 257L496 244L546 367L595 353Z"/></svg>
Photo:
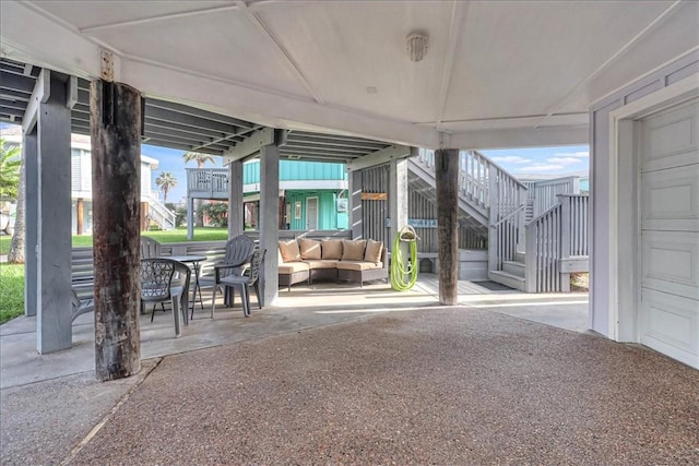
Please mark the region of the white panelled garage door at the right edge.
<svg viewBox="0 0 699 466"><path fill-rule="evenodd" d="M698 99L641 122L641 343L699 369L698 141Z"/></svg>

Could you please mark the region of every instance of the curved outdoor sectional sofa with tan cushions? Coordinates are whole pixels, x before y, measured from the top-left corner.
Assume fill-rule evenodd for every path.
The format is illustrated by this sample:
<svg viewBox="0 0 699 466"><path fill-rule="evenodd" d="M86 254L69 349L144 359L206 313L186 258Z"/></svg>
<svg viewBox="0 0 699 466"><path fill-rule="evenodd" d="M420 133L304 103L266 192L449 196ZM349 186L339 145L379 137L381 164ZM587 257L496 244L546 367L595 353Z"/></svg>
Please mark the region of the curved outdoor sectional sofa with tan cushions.
<svg viewBox="0 0 699 466"><path fill-rule="evenodd" d="M389 278L383 242L372 239L307 239L280 241L279 280L292 285L316 280L358 283Z"/></svg>

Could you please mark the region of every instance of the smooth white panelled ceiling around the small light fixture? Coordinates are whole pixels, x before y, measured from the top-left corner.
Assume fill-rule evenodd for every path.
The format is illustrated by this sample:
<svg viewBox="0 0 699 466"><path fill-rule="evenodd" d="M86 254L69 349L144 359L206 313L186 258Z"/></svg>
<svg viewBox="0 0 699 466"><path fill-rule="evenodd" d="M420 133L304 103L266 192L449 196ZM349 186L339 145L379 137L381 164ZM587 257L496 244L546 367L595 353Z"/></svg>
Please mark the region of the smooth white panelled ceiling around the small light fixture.
<svg viewBox="0 0 699 466"><path fill-rule="evenodd" d="M694 1L3 0L0 21L3 57L94 79L108 49L152 97L427 147L584 143L592 103L699 49Z"/></svg>

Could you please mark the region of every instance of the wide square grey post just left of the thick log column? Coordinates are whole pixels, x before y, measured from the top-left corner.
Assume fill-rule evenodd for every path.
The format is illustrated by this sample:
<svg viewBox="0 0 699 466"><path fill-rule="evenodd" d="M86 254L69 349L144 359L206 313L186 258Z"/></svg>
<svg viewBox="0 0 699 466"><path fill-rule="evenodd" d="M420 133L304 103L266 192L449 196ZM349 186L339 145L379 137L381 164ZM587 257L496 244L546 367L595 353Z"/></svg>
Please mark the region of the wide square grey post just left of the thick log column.
<svg viewBox="0 0 699 466"><path fill-rule="evenodd" d="M70 348L71 202L70 110L66 83L50 75L49 97L39 103L38 208L36 224L36 349L40 354Z"/></svg>

